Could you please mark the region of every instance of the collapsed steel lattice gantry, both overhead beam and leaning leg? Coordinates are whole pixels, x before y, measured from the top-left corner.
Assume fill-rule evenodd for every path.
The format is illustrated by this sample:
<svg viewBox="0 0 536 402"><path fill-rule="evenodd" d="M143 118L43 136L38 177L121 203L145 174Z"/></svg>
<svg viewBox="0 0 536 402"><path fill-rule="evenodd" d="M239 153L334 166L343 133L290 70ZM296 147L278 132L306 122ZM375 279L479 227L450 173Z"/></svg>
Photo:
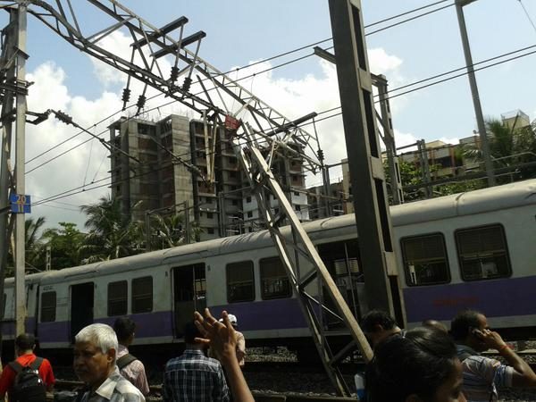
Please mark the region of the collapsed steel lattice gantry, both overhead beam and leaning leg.
<svg viewBox="0 0 536 402"><path fill-rule="evenodd" d="M78 2L56 0L52 5L41 0L20 0L10 4L28 4L28 13L43 21L72 46L128 74L128 86L123 91L124 105L130 100L130 80L135 79L145 84L143 93L138 97L138 111L145 105L147 87L151 87L203 114L205 121L207 118L214 124L223 124L226 119L239 121L232 127L235 154L247 173L259 210L306 316L322 363L339 394L349 395L348 386L338 369L339 363L356 348L361 350L365 360L371 358L372 351L356 318L302 228L281 184L271 172L272 161L277 155L301 158L304 169L309 172L319 172L322 168L322 161L317 155L320 147L315 136L298 127L299 123L314 117L314 113L297 121L290 120L240 86L237 80L231 80L228 75L205 62L198 55L205 33L199 31L184 36L188 22L186 17L180 17L158 29L115 0L87 2L109 17L107 22L104 19L94 21L102 26L91 29L91 32L81 27L82 21L74 7L75 4L80 5ZM172 33L177 30L179 35L172 38ZM130 59L114 54L102 45L102 39L117 31L131 38ZM163 71L163 57L171 60L172 69L169 73ZM192 78L194 74L196 81ZM183 80L179 85L180 78ZM192 88L197 90L192 91ZM239 104L238 111L230 110L228 105L233 101ZM279 201L278 214L271 209L269 194ZM289 222L289 231L281 231L282 222ZM315 280L319 296L311 296ZM335 310L330 310L323 303L322 288L327 289L327 295L336 306ZM324 330L325 314L338 318L348 330L351 341L346 348L331 348L330 334Z"/></svg>

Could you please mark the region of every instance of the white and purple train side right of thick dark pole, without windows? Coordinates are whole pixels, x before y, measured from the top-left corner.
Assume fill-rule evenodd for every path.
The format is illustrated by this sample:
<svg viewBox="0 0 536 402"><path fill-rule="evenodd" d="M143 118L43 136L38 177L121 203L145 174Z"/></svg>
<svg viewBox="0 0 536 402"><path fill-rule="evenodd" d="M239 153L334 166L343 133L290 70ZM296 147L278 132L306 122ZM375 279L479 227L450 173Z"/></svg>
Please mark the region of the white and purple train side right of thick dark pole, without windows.
<svg viewBox="0 0 536 402"><path fill-rule="evenodd" d="M412 326L429 318L450 322L458 311L472 308L486 314L490 325L495 328L534 326L536 322L535 212L534 205L527 205L398 227L397 251L400 258L402 258L401 238L440 230L445 238L450 268L448 283L428 286L411 286L407 281L406 272L400 272L407 322ZM465 281L460 269L456 230L481 228L486 225L500 226L504 229L511 274L496 279Z"/></svg>

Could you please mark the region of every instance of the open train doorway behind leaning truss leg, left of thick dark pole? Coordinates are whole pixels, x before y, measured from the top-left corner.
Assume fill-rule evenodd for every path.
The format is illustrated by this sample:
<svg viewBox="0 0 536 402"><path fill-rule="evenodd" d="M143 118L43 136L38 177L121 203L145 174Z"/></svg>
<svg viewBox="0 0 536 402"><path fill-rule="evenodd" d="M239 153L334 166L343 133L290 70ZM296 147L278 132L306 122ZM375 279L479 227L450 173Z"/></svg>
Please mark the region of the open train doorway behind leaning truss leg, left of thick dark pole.
<svg viewBox="0 0 536 402"><path fill-rule="evenodd" d="M357 239L318 245L318 253L331 273L340 294L344 297L356 319L359 320L364 311L364 277L361 271ZM326 289L322 290L326 305L334 307ZM326 319L328 325L331 324L331 321L339 322L330 316L327 316Z"/></svg>

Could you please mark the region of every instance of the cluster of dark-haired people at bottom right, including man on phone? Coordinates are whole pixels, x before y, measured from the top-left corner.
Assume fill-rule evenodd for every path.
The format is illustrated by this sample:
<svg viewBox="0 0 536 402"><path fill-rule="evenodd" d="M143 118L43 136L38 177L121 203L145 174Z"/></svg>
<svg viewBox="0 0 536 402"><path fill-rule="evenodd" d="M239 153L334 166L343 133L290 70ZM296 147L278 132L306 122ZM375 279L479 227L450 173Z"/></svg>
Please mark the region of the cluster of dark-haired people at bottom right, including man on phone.
<svg viewBox="0 0 536 402"><path fill-rule="evenodd" d="M464 310L450 323L426 320L410 331L373 310L361 328L374 349L365 373L367 402L490 402L498 388L536 387L536 374L484 314ZM482 356L496 349L507 362Z"/></svg>

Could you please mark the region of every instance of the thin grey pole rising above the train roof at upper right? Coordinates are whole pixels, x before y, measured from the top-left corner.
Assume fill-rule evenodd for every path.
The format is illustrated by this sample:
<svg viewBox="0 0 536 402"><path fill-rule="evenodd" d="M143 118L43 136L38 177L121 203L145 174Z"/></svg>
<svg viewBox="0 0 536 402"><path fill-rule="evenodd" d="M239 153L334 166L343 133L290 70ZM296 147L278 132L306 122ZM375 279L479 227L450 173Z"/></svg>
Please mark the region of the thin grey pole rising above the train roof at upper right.
<svg viewBox="0 0 536 402"><path fill-rule="evenodd" d="M465 26L464 5L471 4L474 1L475 0L456 0L456 14L458 25L460 27L460 36L462 37L462 46L464 46L467 78L469 79L471 95L473 96L474 114L476 117L478 134L480 135L481 139L482 155L484 157L484 168L486 170L486 175L488 176L488 186L493 187L495 186L495 174L493 172L493 163L491 162L490 144L488 142L486 125L484 123L484 116L482 114L482 105L480 102L480 96L478 94L478 86L476 85L476 78L474 76L473 57L471 55L471 48L469 47L467 27Z"/></svg>

